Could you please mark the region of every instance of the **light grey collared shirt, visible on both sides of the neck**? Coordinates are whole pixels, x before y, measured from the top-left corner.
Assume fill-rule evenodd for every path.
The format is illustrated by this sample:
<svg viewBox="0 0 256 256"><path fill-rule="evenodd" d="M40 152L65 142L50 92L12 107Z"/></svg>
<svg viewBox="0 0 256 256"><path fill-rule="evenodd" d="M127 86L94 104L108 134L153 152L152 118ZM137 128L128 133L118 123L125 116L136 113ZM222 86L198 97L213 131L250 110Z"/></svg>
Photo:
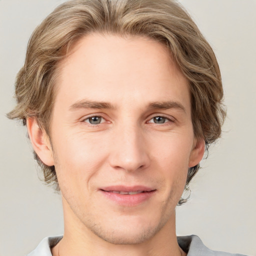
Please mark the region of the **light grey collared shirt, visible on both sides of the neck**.
<svg viewBox="0 0 256 256"><path fill-rule="evenodd" d="M45 237L27 256L52 256L50 248L56 245L62 236ZM178 245L187 256L245 256L208 249L197 235L177 236Z"/></svg>

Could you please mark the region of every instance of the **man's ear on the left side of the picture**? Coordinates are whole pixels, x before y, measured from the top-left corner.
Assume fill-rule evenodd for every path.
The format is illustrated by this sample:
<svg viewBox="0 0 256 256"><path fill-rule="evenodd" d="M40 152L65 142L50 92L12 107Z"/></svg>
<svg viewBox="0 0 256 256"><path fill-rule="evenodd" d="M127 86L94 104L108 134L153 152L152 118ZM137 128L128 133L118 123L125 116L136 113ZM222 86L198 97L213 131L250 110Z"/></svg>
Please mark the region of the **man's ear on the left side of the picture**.
<svg viewBox="0 0 256 256"><path fill-rule="evenodd" d="M26 119L26 126L33 149L41 161L48 166L54 165L50 140L45 130L39 127L34 117Z"/></svg>

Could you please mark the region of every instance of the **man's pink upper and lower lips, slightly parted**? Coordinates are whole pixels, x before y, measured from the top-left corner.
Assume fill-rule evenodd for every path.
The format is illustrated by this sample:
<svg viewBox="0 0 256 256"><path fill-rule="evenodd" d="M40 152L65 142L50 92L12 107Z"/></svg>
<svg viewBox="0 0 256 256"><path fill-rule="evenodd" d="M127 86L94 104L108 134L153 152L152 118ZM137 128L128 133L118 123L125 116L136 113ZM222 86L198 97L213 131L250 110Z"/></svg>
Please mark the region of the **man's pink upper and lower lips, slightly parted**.
<svg viewBox="0 0 256 256"><path fill-rule="evenodd" d="M123 185L115 185L115 186L106 186L99 189L99 191L108 199L123 206L136 206L151 198L155 192L155 188L151 188L148 186L123 186ZM119 194L113 191L122 191L122 192L134 192L134 191L142 191L137 194Z"/></svg>

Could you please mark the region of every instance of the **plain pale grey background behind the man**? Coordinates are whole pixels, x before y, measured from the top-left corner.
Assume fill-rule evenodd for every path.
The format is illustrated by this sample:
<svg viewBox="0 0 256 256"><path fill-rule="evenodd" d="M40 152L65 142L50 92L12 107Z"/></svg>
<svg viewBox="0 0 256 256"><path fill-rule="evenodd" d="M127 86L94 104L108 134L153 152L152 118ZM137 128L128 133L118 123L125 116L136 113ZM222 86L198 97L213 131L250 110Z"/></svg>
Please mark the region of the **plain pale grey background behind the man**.
<svg viewBox="0 0 256 256"><path fill-rule="evenodd" d="M5 117L28 38L61 2L0 0L0 256L25 255L43 237L63 232L60 196L38 180L25 128ZM177 234L256 255L256 1L181 3L215 50L227 119L191 184L190 201L177 207Z"/></svg>

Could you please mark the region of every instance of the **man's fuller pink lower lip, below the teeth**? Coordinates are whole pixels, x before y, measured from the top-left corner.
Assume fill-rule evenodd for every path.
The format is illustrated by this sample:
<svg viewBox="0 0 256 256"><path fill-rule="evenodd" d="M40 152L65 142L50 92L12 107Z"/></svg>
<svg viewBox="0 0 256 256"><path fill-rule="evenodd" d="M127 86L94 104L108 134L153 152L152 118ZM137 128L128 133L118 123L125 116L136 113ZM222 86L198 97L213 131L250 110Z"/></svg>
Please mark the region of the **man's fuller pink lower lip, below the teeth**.
<svg viewBox="0 0 256 256"><path fill-rule="evenodd" d="M142 192L138 194L118 194L109 191L100 190L104 196L123 206L135 206L148 200L156 190Z"/></svg>

